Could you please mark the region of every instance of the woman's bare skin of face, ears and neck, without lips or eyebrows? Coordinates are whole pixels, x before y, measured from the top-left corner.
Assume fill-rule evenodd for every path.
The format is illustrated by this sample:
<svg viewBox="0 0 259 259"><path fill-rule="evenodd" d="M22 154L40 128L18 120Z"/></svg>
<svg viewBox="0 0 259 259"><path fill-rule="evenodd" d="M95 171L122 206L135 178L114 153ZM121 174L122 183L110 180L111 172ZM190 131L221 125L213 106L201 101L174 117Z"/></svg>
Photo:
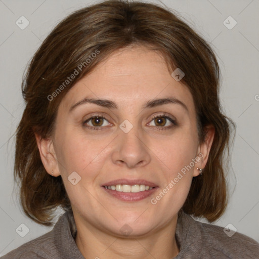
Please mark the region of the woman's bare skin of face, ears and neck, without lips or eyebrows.
<svg viewBox="0 0 259 259"><path fill-rule="evenodd" d="M173 258L179 253L177 213L192 178L199 176L197 167L204 168L207 162L214 129L209 126L206 141L199 144L192 95L171 72L161 55L143 46L116 51L62 99L52 138L36 136L47 172L62 176L77 227L75 242L85 258ZM117 109L87 103L69 112L86 97L111 100ZM147 101L168 97L182 101L188 111L172 103L142 108ZM164 113L177 125L163 118ZM101 125L101 130L83 126L94 115L105 119L85 124ZM153 115L161 115L162 122ZM119 127L125 119L133 125L128 133ZM202 159L152 204L150 199L199 153ZM81 177L76 185L68 181L73 171ZM121 178L145 179L158 188L146 199L121 201L101 187ZM124 224L132 229L129 236L120 232Z"/></svg>

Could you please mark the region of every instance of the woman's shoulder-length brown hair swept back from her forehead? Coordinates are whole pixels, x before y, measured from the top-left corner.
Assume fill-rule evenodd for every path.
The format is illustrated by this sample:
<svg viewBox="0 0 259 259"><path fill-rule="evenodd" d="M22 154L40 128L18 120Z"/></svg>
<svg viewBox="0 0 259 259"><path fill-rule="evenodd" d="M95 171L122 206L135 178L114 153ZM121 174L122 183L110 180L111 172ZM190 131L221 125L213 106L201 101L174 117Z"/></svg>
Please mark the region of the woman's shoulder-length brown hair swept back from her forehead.
<svg viewBox="0 0 259 259"><path fill-rule="evenodd" d="M185 72L182 82L194 99L199 141L204 141L206 125L215 128L207 164L202 176L193 178L183 210L210 222L225 211L223 158L225 150L229 152L230 124L234 123L222 113L220 72L213 51L173 12L154 4L114 0L80 9L61 21L42 42L23 78L26 107L17 128L14 174L23 210L35 222L53 225L54 210L58 206L71 210L71 205L61 176L46 172L34 133L50 137L67 91L115 50L132 45L158 51L168 69L179 67ZM78 75L67 82L75 69Z"/></svg>

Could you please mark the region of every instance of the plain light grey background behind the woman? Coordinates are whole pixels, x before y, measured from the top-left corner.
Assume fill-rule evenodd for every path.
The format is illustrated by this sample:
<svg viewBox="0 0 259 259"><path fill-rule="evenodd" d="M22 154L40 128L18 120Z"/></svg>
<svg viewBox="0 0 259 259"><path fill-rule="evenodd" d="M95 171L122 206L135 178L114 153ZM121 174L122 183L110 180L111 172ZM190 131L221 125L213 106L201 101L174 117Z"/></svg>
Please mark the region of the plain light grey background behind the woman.
<svg viewBox="0 0 259 259"><path fill-rule="evenodd" d="M223 76L222 105L237 124L232 168L228 175L230 202L224 216L214 224L226 227L231 223L238 232L259 241L259 1L161 2L179 12L211 42ZM24 109L22 74L54 25L70 12L90 3L97 1L0 0L0 256L52 229L25 217L13 180L13 134ZM16 25L21 16L29 21L24 30ZM237 21L231 30L223 23L229 16ZM233 20L228 23L232 25ZM25 237L16 232L22 223L29 229Z"/></svg>

